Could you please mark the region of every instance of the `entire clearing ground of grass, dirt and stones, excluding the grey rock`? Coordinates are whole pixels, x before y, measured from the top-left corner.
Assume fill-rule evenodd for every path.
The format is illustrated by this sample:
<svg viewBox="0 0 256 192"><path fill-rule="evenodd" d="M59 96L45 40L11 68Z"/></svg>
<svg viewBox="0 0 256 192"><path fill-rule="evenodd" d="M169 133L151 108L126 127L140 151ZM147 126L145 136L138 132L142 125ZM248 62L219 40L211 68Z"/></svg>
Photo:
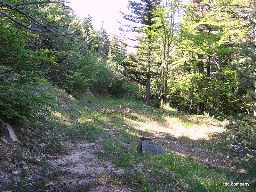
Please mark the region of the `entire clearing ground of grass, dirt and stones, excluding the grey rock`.
<svg viewBox="0 0 256 192"><path fill-rule="evenodd" d="M234 153L229 148L235 141L228 135L226 122L167 106L156 109L137 101L90 98L58 98L60 109L52 110L50 119L41 121L38 128L30 128L32 138L25 128L18 131L27 148L18 150L9 141L2 143L6 159L1 159L5 167L0 166L0 175L7 178L14 169L18 174L11 176L14 188L2 186L0 191L255 190L255 175L248 174L245 166L249 152ZM166 152L136 152L139 136L154 137L153 142ZM41 143L45 146L40 147ZM16 153L11 155L10 150ZM10 157L12 162L6 163ZM17 167L21 160L27 169ZM225 183L250 183L252 187Z"/></svg>

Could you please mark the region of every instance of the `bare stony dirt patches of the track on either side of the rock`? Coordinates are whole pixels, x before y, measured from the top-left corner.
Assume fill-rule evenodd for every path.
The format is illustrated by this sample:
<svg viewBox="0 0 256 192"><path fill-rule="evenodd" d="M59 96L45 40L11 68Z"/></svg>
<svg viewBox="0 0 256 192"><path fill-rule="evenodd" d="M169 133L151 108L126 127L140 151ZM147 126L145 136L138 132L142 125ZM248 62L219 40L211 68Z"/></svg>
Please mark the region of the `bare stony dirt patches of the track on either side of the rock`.
<svg viewBox="0 0 256 192"><path fill-rule="evenodd" d="M196 141L196 139L202 137L207 141L208 132L222 132L224 131L223 127L210 125L207 128L192 127L186 129L178 122L177 124L168 122L167 126L169 128L167 128L167 126L159 126L156 122L152 121L148 123L132 121L131 124L137 124L143 131L146 131L145 127L150 128L152 136L155 137L154 141L162 143L169 152L193 158L195 161L206 166L211 165L212 167L232 169L225 155L217 156L214 149L208 150L205 148L205 143ZM106 132L108 131L106 130ZM188 140L180 138L184 135L189 136ZM117 140L117 138L112 140ZM119 142L122 143L121 140ZM59 177L59 183L67 186L86 183L89 186L89 190L87 190L89 192L130 192L132 190L125 187L118 188L104 182L104 179L100 179L102 175L111 177L113 171L118 170L110 160L104 158L99 160L95 155L99 150L104 151L104 146L101 144L86 141L74 144L62 141L62 145L68 149L67 154L58 155L58 159L52 161L53 166L65 173ZM215 160L214 163L212 163L213 160ZM139 169L143 171L143 168L140 167Z"/></svg>

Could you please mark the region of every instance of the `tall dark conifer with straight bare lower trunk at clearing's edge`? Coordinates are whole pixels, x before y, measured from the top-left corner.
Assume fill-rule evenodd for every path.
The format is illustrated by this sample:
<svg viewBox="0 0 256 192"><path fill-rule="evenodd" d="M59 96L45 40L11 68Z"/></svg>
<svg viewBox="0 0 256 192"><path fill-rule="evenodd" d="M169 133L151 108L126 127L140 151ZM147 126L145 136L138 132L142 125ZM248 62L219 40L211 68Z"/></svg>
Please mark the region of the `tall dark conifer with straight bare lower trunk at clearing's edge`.
<svg viewBox="0 0 256 192"><path fill-rule="evenodd" d="M137 23L141 26L129 26L131 31L143 33L144 36L140 37L143 39L145 44L143 48L147 50L147 68L146 68L146 104L150 105L150 77L151 77L151 51L153 37L151 34L152 25L156 23L156 16L153 15L153 11L160 4L159 0L140 0L140 2L129 1L128 9L132 14L124 14L123 17L126 20Z"/></svg>

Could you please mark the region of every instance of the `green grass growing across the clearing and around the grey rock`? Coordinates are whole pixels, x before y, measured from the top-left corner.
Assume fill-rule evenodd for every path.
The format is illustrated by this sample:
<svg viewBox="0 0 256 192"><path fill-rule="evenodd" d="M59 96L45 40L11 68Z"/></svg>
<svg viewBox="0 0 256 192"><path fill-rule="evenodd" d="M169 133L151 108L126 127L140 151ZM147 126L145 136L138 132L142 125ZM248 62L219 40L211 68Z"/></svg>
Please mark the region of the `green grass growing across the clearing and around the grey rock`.
<svg viewBox="0 0 256 192"><path fill-rule="evenodd" d="M70 125L63 111L58 115L62 123L69 125L69 129L76 129L80 136L69 134L71 138L83 139L94 142L99 137L105 138L101 142L103 150L96 150L94 154L99 160L108 158L118 168L125 170L124 174L115 174L114 178L108 175L102 175L101 181L111 183L115 186L127 186L134 188L134 191L195 191L195 192L219 192L219 191L241 191L241 188L230 188L224 184L233 182L225 174L220 174L213 169L207 169L204 166L193 162L193 160L167 152L160 156L150 154L140 154L134 151L137 145L137 136L148 136L151 134L150 128L143 125L136 125L133 121L140 123L156 122L163 125L166 121L180 122L186 128L196 128L206 126L207 118L200 117L199 120L192 115L182 115L174 109L165 107L165 110L146 107L139 102L130 100L87 100L85 107L78 107L76 114L73 114L77 125ZM95 107L96 106L96 107ZM132 110L127 110L132 109ZM79 113L78 113L79 111ZM90 122L86 121L90 119ZM108 126L107 124L112 124ZM125 126L123 126L125 125ZM111 130L115 138L128 145L121 145L120 142L114 142ZM74 131L73 131L74 132ZM82 136L82 137L81 137ZM189 139L189 135L183 136L184 140ZM168 139L168 137L167 137ZM180 138L182 141L182 137ZM212 145L206 146L206 149L212 150ZM142 160L141 160L142 159ZM138 164L143 162L143 172L138 172ZM140 168L141 169L141 168ZM150 172L148 170L151 170ZM243 178L240 182L245 182Z"/></svg>

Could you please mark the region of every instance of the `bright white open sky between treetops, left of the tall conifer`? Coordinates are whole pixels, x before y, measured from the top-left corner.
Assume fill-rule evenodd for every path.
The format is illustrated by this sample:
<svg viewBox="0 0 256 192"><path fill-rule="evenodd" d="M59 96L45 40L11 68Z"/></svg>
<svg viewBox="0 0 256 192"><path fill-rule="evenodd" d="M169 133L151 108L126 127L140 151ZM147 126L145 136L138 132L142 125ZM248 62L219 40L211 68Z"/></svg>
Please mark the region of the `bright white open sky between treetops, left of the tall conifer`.
<svg viewBox="0 0 256 192"><path fill-rule="evenodd" d="M92 24L94 29L99 29L104 21L104 29L108 31L108 35L116 33L118 35L118 28L122 24L118 24L117 20L124 23L122 13L129 12L127 5L129 0L69 0L69 5L82 20L88 14L92 16Z"/></svg>

